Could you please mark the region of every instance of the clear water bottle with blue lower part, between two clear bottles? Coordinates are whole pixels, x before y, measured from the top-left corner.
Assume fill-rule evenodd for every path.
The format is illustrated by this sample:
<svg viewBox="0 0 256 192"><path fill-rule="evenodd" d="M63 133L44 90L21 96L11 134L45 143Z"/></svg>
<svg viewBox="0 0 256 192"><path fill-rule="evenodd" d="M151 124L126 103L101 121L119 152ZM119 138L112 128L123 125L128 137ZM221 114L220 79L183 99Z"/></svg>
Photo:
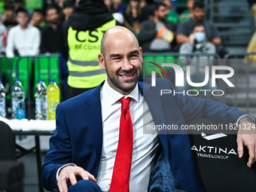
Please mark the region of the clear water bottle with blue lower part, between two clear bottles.
<svg viewBox="0 0 256 192"><path fill-rule="evenodd" d="M12 118L21 120L26 118L25 92L20 79L15 81L11 92Z"/></svg>

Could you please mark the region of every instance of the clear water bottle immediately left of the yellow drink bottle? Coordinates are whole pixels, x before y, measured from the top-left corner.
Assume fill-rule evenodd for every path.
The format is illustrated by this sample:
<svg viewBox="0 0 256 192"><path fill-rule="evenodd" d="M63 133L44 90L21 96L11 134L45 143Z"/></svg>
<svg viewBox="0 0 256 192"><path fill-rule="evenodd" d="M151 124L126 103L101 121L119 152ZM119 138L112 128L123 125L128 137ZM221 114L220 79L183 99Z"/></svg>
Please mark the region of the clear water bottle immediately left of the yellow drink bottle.
<svg viewBox="0 0 256 192"><path fill-rule="evenodd" d="M38 84L35 87L35 119L47 120L47 113L47 86L44 84L44 80L39 79Z"/></svg>

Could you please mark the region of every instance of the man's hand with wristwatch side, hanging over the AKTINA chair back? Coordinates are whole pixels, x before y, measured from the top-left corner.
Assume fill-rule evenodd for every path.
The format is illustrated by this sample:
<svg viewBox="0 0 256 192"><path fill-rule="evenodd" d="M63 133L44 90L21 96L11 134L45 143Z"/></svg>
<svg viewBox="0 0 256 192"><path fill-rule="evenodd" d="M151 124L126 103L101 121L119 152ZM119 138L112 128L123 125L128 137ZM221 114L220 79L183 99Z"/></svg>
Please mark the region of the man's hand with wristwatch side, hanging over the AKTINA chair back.
<svg viewBox="0 0 256 192"><path fill-rule="evenodd" d="M248 120L243 120L239 123L236 142L239 158L243 155L243 146L245 145L248 148L249 159L247 166L251 167L256 161L256 127L254 123L251 123Z"/></svg>

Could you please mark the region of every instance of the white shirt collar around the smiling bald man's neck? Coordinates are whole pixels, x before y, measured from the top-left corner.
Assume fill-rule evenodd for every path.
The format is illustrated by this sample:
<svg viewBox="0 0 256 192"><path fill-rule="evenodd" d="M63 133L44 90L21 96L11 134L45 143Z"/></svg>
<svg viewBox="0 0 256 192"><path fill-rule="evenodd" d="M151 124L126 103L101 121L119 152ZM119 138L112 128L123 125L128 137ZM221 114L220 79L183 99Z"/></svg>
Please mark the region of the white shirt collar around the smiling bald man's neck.
<svg viewBox="0 0 256 192"><path fill-rule="evenodd" d="M117 92L113 88L111 88L108 84L107 78L102 86L102 93L103 96L105 96L108 99L108 102L113 105L115 102L117 102L119 99L123 97L123 94ZM136 84L136 87L134 90L128 95L124 96L124 98L131 97L133 98L136 102L139 102L139 87L138 83Z"/></svg>

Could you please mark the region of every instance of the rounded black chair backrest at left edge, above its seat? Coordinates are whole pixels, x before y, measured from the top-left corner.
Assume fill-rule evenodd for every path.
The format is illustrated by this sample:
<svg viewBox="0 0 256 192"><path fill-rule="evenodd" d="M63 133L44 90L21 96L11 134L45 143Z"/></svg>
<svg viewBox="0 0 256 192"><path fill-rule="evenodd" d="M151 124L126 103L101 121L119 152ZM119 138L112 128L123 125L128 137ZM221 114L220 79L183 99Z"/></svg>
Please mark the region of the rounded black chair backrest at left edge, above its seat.
<svg viewBox="0 0 256 192"><path fill-rule="evenodd" d="M8 124L0 121L0 160L17 160L15 137Z"/></svg>

